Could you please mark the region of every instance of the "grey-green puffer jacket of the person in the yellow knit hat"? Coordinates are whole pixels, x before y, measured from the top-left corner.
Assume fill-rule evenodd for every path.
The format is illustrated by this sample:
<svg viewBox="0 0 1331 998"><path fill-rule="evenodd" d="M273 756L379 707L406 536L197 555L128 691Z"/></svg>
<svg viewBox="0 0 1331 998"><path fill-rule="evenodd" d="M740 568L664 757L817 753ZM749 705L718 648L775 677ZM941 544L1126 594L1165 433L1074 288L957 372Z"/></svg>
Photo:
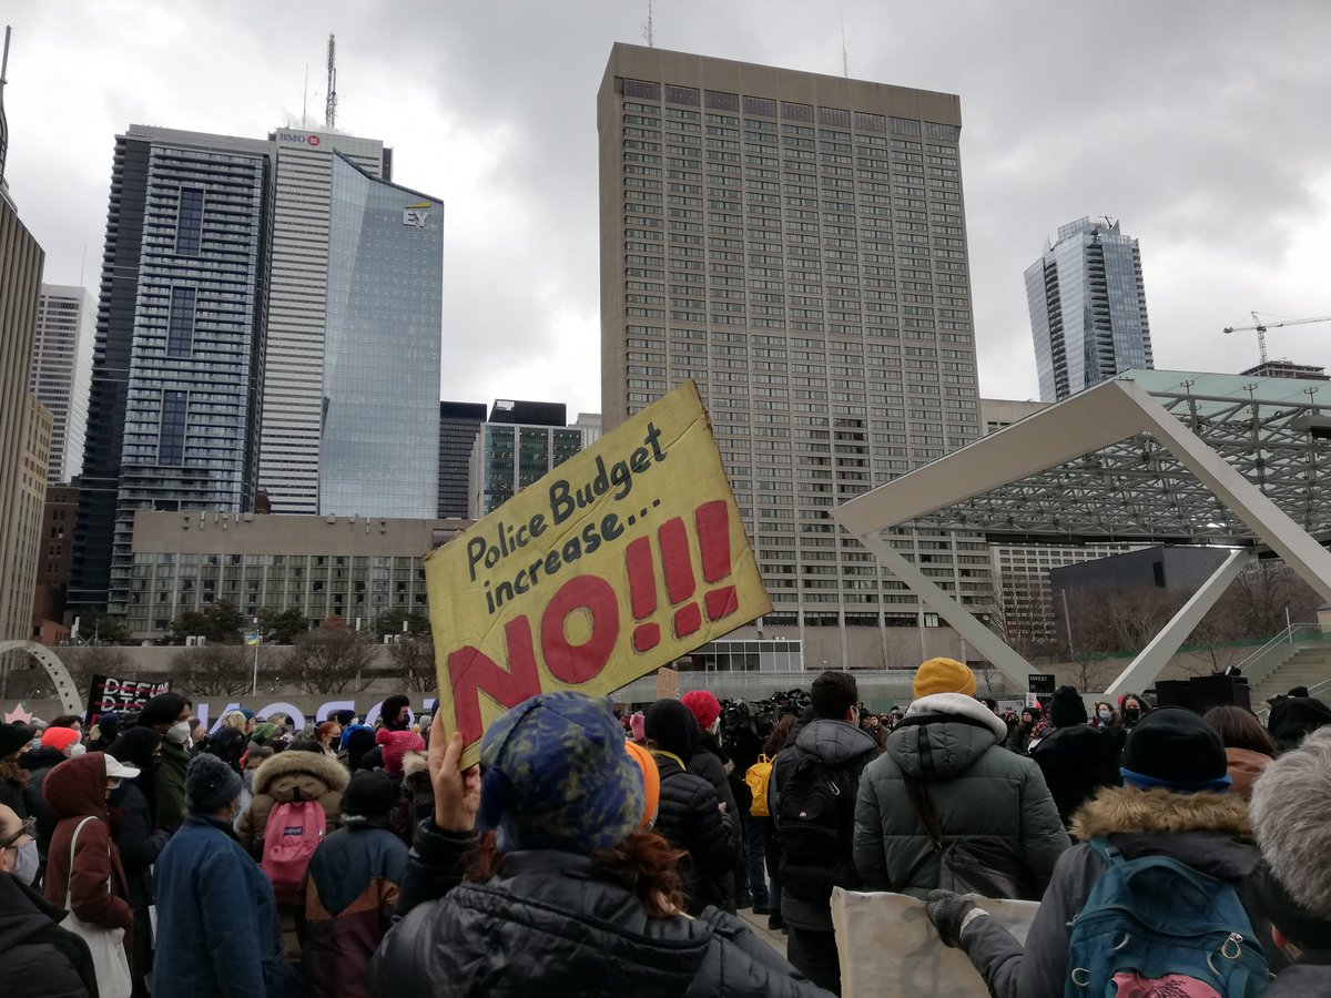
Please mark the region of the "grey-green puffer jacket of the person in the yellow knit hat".
<svg viewBox="0 0 1331 998"><path fill-rule="evenodd" d="M938 856L906 792L910 774L924 781L949 844L1001 849L1025 870L1034 896L1044 893L1071 844L1040 766L998 745L1006 731L989 708L961 693L910 704L860 781L855 865L869 890L924 897L938 886Z"/></svg>

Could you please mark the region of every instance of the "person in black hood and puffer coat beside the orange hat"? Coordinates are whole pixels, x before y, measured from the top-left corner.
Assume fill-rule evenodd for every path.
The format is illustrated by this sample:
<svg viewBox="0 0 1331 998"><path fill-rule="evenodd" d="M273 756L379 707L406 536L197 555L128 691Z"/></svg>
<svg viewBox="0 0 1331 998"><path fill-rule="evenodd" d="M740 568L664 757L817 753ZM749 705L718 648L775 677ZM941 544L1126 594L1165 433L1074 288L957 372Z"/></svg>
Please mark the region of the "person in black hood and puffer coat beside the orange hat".
<svg viewBox="0 0 1331 998"><path fill-rule="evenodd" d="M683 861L688 913L696 915L708 905L733 909L731 874L740 856L740 825L712 785L688 772L697 721L679 700L658 700L647 708L646 732L662 774L655 829L688 853Z"/></svg>

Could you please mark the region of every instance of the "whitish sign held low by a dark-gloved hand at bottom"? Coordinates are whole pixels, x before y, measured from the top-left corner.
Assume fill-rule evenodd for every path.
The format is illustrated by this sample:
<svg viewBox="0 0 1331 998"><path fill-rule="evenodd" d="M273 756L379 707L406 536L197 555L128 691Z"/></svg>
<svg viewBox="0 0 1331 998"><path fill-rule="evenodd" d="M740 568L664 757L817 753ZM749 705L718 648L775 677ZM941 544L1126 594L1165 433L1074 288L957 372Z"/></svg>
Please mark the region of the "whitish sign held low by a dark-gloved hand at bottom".
<svg viewBox="0 0 1331 998"><path fill-rule="evenodd" d="M1034 901L976 898L1021 942L1036 918ZM961 950L942 945L924 901L905 894L832 892L832 925L841 954L843 998L988 998L989 989Z"/></svg>

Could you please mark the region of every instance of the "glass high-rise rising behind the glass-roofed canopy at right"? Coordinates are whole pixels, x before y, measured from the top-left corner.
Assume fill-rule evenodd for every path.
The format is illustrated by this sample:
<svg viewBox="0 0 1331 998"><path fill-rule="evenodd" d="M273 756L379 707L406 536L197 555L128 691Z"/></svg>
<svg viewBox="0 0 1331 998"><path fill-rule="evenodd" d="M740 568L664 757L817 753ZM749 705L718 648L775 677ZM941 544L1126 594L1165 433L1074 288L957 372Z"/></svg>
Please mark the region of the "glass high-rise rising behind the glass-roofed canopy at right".
<svg viewBox="0 0 1331 998"><path fill-rule="evenodd" d="M1026 267L1040 398L1065 399L1130 367L1154 367L1137 240L1078 218Z"/></svg>

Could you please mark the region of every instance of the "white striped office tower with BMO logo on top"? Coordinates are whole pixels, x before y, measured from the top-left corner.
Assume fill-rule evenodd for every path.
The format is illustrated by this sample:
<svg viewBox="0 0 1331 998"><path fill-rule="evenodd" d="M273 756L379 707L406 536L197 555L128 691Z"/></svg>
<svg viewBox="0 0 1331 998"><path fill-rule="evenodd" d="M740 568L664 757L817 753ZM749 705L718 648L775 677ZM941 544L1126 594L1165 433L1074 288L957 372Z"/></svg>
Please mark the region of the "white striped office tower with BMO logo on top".
<svg viewBox="0 0 1331 998"><path fill-rule="evenodd" d="M258 483L273 512L318 512L333 158L391 180L393 150L373 138L286 128L269 140L276 189Z"/></svg>

